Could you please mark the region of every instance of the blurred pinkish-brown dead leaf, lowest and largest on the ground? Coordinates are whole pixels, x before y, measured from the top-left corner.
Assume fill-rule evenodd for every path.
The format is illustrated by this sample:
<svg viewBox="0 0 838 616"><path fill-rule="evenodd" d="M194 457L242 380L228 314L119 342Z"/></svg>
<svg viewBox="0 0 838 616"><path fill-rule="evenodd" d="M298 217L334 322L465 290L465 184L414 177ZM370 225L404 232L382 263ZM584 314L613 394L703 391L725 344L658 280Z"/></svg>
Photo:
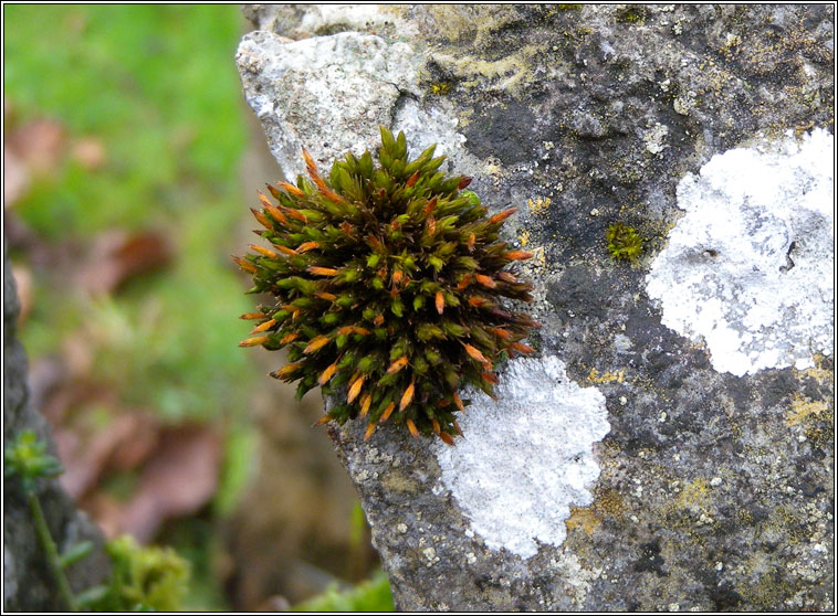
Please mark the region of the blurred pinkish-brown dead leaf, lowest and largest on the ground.
<svg viewBox="0 0 838 616"><path fill-rule="evenodd" d="M218 488L221 453L221 438L208 426L164 431L137 492L126 503L121 530L148 542L165 520L207 505Z"/></svg>

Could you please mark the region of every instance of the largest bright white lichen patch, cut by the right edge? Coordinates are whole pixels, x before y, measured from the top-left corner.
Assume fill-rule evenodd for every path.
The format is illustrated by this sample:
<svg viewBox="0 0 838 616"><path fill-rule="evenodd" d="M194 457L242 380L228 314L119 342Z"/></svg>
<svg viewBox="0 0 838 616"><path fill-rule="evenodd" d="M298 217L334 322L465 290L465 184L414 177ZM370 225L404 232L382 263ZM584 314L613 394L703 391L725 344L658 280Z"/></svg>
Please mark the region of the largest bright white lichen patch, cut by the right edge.
<svg viewBox="0 0 838 616"><path fill-rule="evenodd" d="M704 341L736 375L813 365L831 353L835 320L834 138L714 156L678 185L687 214L647 276L667 327Z"/></svg>

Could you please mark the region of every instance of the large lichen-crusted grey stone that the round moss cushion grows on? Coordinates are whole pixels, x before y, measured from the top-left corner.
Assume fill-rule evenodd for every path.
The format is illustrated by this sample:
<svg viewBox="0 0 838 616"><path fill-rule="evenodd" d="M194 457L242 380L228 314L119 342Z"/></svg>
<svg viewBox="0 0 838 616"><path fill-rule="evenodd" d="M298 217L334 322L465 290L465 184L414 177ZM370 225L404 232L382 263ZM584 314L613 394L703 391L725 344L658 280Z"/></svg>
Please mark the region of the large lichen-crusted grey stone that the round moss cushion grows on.
<svg viewBox="0 0 838 616"><path fill-rule="evenodd" d="M832 7L244 11L289 177L385 124L536 254L540 355L457 447L329 431L397 605L832 609Z"/></svg>

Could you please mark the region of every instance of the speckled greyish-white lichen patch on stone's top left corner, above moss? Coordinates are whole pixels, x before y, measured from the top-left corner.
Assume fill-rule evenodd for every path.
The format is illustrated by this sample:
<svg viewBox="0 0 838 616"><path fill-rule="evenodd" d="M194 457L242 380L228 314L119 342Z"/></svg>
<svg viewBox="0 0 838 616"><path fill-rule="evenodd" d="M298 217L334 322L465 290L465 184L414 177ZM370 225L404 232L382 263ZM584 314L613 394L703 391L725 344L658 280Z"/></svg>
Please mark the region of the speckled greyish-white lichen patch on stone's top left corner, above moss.
<svg viewBox="0 0 838 616"><path fill-rule="evenodd" d="M286 177L304 171L305 146L321 162L379 142L379 125L412 92L423 57L405 42L342 32L290 41L247 34L235 54L248 103Z"/></svg>

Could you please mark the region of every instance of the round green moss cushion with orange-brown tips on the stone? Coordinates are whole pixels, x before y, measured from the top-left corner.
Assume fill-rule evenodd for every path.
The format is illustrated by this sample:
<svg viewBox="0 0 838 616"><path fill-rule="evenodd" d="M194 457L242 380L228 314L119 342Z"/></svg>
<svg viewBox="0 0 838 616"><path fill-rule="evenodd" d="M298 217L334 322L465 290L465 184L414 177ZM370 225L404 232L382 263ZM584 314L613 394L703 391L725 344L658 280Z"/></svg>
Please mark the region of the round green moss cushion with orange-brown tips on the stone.
<svg viewBox="0 0 838 616"><path fill-rule="evenodd" d="M233 258L275 301L242 316L255 327L241 346L285 348L272 376L336 396L320 423L360 417L369 437L389 419L453 444L462 389L491 395L499 361L533 352L537 323L503 300L532 299L507 269L532 255L499 240L515 209L488 216L433 150L411 160L381 127L378 163L347 153L328 178L303 150L308 178L269 184L252 210L271 247Z"/></svg>

